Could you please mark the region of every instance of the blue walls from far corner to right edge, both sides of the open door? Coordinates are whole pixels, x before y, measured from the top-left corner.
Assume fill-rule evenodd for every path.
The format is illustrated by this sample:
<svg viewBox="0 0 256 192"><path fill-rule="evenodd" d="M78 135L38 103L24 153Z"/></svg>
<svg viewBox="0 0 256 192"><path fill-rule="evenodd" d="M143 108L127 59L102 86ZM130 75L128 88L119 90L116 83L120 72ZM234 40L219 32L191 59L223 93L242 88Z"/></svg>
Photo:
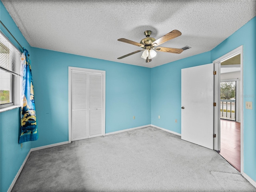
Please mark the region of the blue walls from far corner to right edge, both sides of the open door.
<svg viewBox="0 0 256 192"><path fill-rule="evenodd" d="M244 106L256 104L256 17L210 52L184 58L151 70L151 123L181 133L181 69L212 63L224 54L244 46ZM244 172L256 181L256 107L244 107ZM158 119L160 115L160 119ZM178 123L175 123L175 119Z"/></svg>

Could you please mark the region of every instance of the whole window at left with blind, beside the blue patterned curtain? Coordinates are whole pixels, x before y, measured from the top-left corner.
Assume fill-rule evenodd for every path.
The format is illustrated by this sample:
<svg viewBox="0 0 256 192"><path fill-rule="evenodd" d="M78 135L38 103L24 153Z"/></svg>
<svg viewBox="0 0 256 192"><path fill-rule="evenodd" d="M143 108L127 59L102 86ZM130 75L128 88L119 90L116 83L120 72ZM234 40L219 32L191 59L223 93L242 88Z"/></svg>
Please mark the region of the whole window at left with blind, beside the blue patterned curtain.
<svg viewBox="0 0 256 192"><path fill-rule="evenodd" d="M19 105L20 51L0 33L0 108Z"/></svg>

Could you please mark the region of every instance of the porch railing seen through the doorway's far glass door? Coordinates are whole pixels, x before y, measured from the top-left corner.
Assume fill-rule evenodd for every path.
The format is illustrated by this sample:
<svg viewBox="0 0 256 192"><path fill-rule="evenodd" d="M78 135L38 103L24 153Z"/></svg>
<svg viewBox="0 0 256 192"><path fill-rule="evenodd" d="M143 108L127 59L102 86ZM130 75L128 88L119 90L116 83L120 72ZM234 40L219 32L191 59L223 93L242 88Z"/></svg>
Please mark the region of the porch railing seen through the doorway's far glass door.
<svg viewBox="0 0 256 192"><path fill-rule="evenodd" d="M236 100L220 100L220 118L236 120Z"/></svg>

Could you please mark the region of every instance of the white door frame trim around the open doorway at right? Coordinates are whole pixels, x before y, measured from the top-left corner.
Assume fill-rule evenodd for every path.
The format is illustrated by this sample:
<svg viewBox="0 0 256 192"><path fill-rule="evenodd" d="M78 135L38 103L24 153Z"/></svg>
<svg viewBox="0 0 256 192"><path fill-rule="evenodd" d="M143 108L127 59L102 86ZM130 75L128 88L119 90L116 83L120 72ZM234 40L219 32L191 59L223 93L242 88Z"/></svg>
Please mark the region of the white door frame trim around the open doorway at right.
<svg viewBox="0 0 256 192"><path fill-rule="evenodd" d="M228 52L227 54L221 56L220 58L213 61L214 70L217 72L214 78L214 100L218 105L214 108L214 134L216 134L216 138L214 138L214 150L220 150L220 63L228 60L236 55L240 54L240 152L241 152L241 173L244 172L244 136L243 136L243 128L244 128L244 117L243 117L243 46L239 46L238 48Z"/></svg>

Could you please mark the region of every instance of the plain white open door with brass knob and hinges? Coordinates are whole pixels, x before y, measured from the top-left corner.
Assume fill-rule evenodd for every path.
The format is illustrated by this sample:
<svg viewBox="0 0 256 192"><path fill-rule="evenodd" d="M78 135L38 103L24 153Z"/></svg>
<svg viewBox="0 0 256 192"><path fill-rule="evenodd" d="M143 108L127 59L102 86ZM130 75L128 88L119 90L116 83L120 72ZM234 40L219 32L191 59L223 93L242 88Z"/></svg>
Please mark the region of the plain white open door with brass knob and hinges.
<svg viewBox="0 0 256 192"><path fill-rule="evenodd" d="M213 149L214 66L181 70L181 138Z"/></svg>

